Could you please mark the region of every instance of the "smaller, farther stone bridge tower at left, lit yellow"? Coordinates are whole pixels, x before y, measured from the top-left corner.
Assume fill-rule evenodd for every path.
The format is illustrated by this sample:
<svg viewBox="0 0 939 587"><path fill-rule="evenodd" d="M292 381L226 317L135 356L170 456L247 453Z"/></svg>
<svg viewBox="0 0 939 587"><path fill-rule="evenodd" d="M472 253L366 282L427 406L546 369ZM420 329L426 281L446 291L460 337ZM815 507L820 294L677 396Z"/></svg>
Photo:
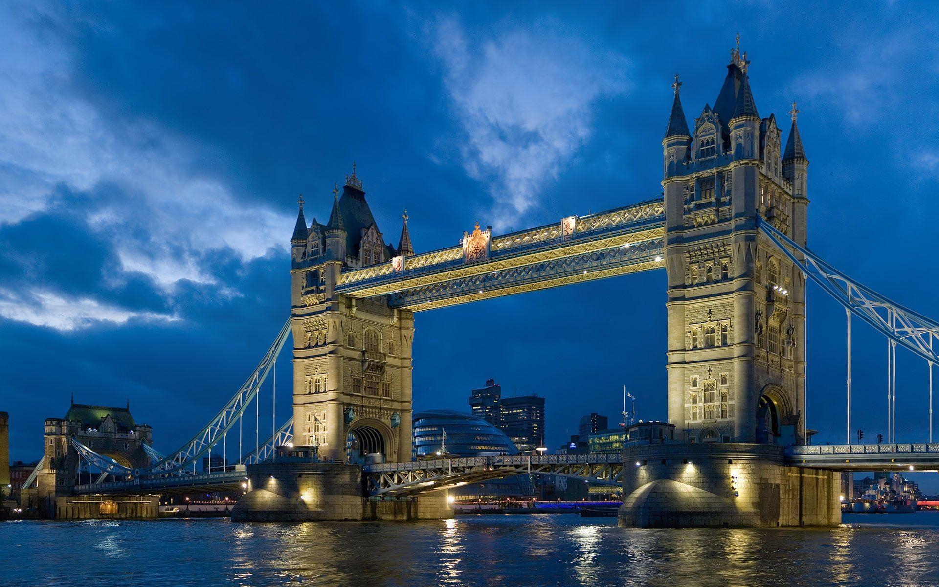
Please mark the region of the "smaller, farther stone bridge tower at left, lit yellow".
<svg viewBox="0 0 939 587"><path fill-rule="evenodd" d="M413 255L404 219L395 249L378 230L354 165L342 194L333 190L327 224L307 225L300 197L290 239L294 442L318 446L327 459L345 458L351 433L363 455L410 460L414 315L383 297L335 292L343 270Z"/></svg>

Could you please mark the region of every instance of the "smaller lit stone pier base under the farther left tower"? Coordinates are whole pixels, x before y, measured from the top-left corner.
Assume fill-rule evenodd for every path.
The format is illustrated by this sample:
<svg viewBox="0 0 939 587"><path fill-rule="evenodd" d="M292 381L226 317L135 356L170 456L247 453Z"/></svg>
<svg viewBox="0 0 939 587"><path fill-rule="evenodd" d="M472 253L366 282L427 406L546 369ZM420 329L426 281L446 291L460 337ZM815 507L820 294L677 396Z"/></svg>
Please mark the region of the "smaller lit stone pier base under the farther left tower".
<svg viewBox="0 0 939 587"><path fill-rule="evenodd" d="M232 521L407 521L453 516L446 491L418 499L369 500L358 465L285 457L247 469L248 492L232 510Z"/></svg>

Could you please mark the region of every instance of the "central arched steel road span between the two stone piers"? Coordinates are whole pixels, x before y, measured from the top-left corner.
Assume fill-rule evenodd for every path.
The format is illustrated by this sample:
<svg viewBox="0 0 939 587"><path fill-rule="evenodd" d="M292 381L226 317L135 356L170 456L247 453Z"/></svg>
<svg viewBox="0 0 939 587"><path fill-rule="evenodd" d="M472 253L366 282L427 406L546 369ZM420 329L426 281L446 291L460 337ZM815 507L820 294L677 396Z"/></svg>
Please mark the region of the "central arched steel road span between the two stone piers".
<svg viewBox="0 0 939 587"><path fill-rule="evenodd" d="M366 465L363 471L368 478L368 492L376 497L414 496L528 473L621 486L623 456L470 456Z"/></svg>

